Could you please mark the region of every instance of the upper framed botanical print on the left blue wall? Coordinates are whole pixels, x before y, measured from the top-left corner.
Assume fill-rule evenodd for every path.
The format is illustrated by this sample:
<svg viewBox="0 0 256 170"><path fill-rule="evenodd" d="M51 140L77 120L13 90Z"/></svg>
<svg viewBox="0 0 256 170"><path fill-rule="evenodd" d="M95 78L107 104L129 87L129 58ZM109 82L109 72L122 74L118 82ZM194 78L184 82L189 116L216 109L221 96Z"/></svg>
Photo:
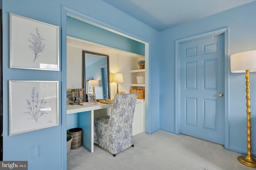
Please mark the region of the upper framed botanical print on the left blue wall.
<svg viewBox="0 0 256 170"><path fill-rule="evenodd" d="M10 13L10 68L59 71L59 27Z"/></svg>

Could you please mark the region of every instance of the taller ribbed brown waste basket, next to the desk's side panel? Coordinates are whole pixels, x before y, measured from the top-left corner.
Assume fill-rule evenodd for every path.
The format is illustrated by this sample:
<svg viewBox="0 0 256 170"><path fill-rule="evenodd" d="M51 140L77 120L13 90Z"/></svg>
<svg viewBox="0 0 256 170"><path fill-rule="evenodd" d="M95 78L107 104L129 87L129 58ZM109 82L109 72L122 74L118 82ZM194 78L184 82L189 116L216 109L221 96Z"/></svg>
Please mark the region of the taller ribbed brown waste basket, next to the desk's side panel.
<svg viewBox="0 0 256 170"><path fill-rule="evenodd" d="M71 149L78 149L82 146L82 128L76 127L68 130L68 134L73 137Z"/></svg>

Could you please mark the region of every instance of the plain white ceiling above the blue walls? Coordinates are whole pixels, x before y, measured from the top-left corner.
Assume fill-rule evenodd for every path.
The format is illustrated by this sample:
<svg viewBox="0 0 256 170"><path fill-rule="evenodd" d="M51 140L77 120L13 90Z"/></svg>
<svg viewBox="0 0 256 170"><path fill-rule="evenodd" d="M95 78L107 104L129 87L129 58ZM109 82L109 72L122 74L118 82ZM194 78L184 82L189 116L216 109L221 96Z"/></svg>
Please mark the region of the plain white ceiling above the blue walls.
<svg viewBox="0 0 256 170"><path fill-rule="evenodd" d="M103 0L126 14L163 31L254 0Z"/></svg>

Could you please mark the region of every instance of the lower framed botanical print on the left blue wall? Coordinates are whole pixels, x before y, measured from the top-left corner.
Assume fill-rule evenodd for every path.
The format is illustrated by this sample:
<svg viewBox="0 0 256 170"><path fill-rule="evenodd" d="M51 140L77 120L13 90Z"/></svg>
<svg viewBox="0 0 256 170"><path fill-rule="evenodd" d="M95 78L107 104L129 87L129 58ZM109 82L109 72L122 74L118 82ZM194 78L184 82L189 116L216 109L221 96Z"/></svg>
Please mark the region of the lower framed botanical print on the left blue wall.
<svg viewBox="0 0 256 170"><path fill-rule="evenodd" d="M58 81L9 80L9 135L59 125Z"/></svg>

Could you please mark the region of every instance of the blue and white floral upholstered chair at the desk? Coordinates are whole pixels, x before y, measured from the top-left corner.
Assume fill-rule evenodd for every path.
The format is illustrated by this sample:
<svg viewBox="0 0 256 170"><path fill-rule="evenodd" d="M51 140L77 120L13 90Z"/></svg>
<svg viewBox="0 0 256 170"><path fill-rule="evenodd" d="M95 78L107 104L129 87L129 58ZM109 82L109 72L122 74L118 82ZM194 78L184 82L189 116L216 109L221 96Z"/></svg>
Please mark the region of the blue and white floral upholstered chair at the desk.
<svg viewBox="0 0 256 170"><path fill-rule="evenodd" d="M134 147L132 121L137 96L137 93L116 94L110 116L94 119L94 143L113 156Z"/></svg>

